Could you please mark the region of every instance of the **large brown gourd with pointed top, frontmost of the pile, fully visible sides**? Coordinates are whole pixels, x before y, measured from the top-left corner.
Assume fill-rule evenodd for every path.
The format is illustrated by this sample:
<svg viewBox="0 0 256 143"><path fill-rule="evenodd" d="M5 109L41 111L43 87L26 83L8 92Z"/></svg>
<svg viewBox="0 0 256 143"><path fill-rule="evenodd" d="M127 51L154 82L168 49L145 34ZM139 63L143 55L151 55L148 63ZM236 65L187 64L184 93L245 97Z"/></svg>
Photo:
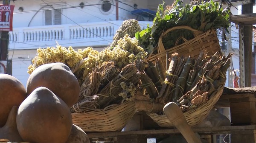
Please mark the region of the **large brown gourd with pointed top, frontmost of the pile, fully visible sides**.
<svg viewBox="0 0 256 143"><path fill-rule="evenodd" d="M38 87L20 104L17 130L25 142L65 143L72 127L69 107L46 87Z"/></svg>

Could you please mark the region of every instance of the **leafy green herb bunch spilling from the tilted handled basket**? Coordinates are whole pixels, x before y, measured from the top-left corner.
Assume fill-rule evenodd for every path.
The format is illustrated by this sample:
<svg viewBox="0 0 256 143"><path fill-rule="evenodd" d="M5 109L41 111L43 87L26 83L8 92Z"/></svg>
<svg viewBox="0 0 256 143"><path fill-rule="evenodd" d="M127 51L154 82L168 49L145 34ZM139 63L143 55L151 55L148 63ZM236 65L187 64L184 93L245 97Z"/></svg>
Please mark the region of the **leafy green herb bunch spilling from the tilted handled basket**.
<svg viewBox="0 0 256 143"><path fill-rule="evenodd" d="M207 31L211 28L226 30L230 26L230 10L223 9L221 4L212 0L197 1L195 3L185 4L182 0L176 0L172 6L160 4L157 9L153 25L141 32L137 32L135 37L139 40L141 47L148 53L157 45L160 35L169 28L186 25L198 31ZM227 31L228 32L228 31ZM181 44L184 41L176 43L179 37L187 40L194 38L191 31L178 29L169 32L163 37L163 45L166 49L172 48L175 44Z"/></svg>

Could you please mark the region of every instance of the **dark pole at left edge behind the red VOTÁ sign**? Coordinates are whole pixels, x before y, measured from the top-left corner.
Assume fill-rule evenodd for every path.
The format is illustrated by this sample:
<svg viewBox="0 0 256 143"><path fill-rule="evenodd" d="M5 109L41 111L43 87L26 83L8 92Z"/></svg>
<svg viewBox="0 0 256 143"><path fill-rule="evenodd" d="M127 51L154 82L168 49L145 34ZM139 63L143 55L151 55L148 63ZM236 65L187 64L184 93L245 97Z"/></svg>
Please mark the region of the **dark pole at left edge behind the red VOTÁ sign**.
<svg viewBox="0 0 256 143"><path fill-rule="evenodd" d="M10 5L10 0L3 0L3 5ZM9 31L0 31L0 60L7 61L7 73L12 74L12 68L9 68L8 61L8 49L9 49Z"/></svg>

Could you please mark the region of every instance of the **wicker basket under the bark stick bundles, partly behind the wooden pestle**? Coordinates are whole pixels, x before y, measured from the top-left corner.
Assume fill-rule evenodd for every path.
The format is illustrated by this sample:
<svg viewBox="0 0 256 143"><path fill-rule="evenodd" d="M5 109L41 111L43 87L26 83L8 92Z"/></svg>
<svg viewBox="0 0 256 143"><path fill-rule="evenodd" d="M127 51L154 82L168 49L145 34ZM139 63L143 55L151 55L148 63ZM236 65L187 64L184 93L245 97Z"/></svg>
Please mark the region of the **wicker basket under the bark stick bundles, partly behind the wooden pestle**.
<svg viewBox="0 0 256 143"><path fill-rule="evenodd" d="M223 92L223 88L224 85L218 87L218 89L215 91L216 94L213 95L206 103L201 104L199 107L189 109L183 113L186 121L189 123L189 126L198 125L198 123L201 123L201 121L203 121L207 117L210 110L214 107L214 105L220 98ZM174 127L174 125L169 121L166 115L158 115L157 113L149 112L147 112L147 115L149 115L161 127Z"/></svg>

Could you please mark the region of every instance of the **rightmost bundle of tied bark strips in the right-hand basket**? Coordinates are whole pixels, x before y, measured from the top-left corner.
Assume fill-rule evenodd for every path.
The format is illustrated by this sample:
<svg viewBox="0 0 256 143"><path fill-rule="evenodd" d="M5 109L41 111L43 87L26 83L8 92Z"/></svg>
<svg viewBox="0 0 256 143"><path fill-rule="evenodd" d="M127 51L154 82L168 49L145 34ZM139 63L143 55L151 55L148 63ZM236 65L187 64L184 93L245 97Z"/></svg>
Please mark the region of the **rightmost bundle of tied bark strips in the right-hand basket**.
<svg viewBox="0 0 256 143"><path fill-rule="evenodd" d="M204 63L195 78L199 82L177 100L177 104L180 105L183 111L206 103L209 98L215 95L218 87L224 85L231 56L231 53L227 57L221 57L218 53L215 53L208 62Z"/></svg>

